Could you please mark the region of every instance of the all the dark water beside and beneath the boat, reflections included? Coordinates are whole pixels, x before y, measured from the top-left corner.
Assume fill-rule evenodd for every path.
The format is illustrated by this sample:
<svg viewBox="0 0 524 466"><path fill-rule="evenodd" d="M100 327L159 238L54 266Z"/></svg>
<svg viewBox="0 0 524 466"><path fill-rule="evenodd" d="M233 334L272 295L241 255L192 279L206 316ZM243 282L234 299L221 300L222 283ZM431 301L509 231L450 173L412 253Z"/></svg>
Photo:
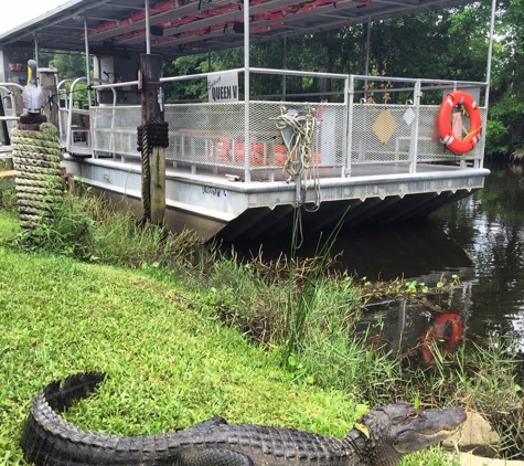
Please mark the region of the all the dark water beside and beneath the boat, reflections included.
<svg viewBox="0 0 524 466"><path fill-rule="evenodd" d="M445 341L445 350L452 350L461 337L483 347L495 345L496 337L514 346L524 374L524 173L510 165L488 168L484 189L472 197L428 221L344 231L333 253L342 253L343 268L371 280L404 277L431 285L460 275L461 285L440 301L368 308L367 318L377 311L383 316L393 350L416 346L428 330ZM318 241L306 234L299 254L314 255ZM264 243L264 257L288 253L289 244L284 236ZM248 254L259 245L235 247Z"/></svg>

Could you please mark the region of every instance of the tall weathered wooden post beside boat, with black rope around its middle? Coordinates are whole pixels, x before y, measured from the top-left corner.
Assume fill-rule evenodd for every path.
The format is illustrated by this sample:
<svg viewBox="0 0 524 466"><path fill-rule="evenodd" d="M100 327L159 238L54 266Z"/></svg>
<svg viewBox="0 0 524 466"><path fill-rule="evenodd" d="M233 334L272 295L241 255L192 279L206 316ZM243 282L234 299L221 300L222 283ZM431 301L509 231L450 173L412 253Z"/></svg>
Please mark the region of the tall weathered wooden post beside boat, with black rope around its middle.
<svg viewBox="0 0 524 466"><path fill-rule="evenodd" d="M148 121L162 120L163 108L159 105L159 92L161 88L160 76L162 59L160 55L142 53L140 55L140 68L142 80L142 126ZM163 104L162 104L163 105ZM143 163L142 163L143 168ZM150 212L145 206L145 214L153 223L163 223L165 218L165 149L152 147L149 156L149 177L142 174L142 192L149 184ZM143 205L143 199L142 199Z"/></svg>

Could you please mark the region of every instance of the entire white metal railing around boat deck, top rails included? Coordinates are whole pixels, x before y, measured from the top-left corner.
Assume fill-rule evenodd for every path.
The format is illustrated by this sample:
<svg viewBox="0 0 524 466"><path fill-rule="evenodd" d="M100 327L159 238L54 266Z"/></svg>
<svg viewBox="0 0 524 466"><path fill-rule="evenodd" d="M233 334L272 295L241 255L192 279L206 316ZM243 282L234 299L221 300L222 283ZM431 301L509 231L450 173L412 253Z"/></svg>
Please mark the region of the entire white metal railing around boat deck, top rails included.
<svg viewBox="0 0 524 466"><path fill-rule="evenodd" d="M229 72L244 73L244 68ZM473 150L457 157L440 142L436 121L445 93L468 87L472 92L479 89L480 98L480 89L485 83L266 68L250 68L249 73L280 76L282 92L247 95L238 102L164 105L164 118L170 128L165 156L173 166L191 172L226 170L247 181L252 177L269 181L281 179L288 155L277 121L290 110L303 112L317 121L311 138L312 161L320 168L321 177L373 174L373 167L381 167L383 172L384 166L391 167L392 173L416 172L417 166L424 163L458 168L482 166L482 139ZM206 83L215 75L220 73L163 77L161 81L164 84L197 80ZM336 84L331 86L330 93L311 93L311 99L296 102L303 94L287 93L284 85L285 78L291 76L329 78ZM138 82L127 82L92 86L97 92L111 89L115 93L113 104L92 105L88 110L90 150L95 157L121 157L125 161L128 157L140 156L136 145L140 106L116 103L118 87L137 85ZM328 96L339 102L328 102ZM73 113L84 114L84 109L73 109L69 104L69 123ZM485 104L481 113L485 124ZM464 126L468 127L467 121ZM68 141L68 147L74 149L71 136Z"/></svg>

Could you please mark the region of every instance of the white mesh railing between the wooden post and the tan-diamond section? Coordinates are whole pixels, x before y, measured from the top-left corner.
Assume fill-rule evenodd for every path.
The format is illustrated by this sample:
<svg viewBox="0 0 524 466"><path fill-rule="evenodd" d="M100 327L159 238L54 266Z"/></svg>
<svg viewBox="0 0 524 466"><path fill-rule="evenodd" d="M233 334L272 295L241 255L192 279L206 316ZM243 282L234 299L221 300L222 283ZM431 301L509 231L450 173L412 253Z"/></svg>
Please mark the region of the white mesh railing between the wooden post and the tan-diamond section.
<svg viewBox="0 0 524 466"><path fill-rule="evenodd" d="M281 168L286 147L277 128L281 104L249 103L249 160L245 157L244 103L174 104L165 107L170 127L167 158L180 162L218 165L249 170ZM318 126L314 159L320 166L341 166L345 150L346 107L343 104L286 103L286 110L310 112Z"/></svg>

